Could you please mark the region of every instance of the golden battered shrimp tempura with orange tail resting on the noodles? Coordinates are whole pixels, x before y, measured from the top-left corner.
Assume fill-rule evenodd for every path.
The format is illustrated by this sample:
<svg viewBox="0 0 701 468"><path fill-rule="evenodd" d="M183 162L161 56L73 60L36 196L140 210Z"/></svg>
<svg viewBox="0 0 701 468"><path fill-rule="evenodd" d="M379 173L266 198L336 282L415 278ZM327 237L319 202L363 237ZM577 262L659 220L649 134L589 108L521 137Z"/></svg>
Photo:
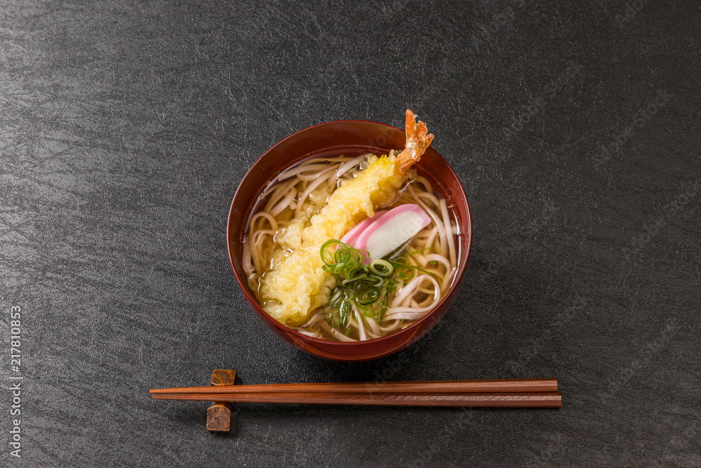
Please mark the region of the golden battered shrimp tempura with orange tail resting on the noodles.
<svg viewBox="0 0 701 468"><path fill-rule="evenodd" d="M336 286L323 269L320 249L329 239L341 239L351 227L374 215L375 208L394 199L404 175L421 158L433 135L426 123L416 123L407 109L407 145L397 156L371 156L367 168L346 180L329 196L326 206L309 220L292 220L281 236L273 258L281 259L261 278L263 308L273 319L287 325L304 323L309 312L326 305ZM290 253L290 249L294 250ZM286 252L284 250L287 250Z"/></svg>

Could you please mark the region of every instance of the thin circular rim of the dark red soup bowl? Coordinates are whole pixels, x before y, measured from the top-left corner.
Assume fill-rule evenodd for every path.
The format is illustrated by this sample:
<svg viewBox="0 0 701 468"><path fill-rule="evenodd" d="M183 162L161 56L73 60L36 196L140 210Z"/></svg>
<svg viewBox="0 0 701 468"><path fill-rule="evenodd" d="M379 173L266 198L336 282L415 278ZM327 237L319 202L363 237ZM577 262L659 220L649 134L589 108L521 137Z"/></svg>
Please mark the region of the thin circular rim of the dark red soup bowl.
<svg viewBox="0 0 701 468"><path fill-rule="evenodd" d="M231 254L231 243L229 242L229 229L231 227L231 216L233 215L233 208L234 208L234 203L236 202L236 197L238 196L238 192L241 189L241 185L243 184L243 181L249 175L251 175L254 168L256 168L256 166L258 166L258 164L266 156L266 154L271 152L275 147L277 147L281 143L285 142L285 140L288 140L288 139L294 137L298 133L303 133L303 132L309 131L313 128L331 125L334 123L373 123L374 125L392 128L393 130L398 130L402 133L405 133L401 128L397 128L395 126L388 125L387 123L375 122L375 121L370 121L370 120L334 120L334 121L328 121L328 122L322 122L322 123L315 123L312 126L308 126L306 128L302 128L301 130L298 130L294 133L291 133L290 135L287 135L285 138L276 142L275 145L266 149L266 151L264 151L263 154L261 154L261 156L250 166L250 168L248 168L248 171L246 171L245 175L243 175L243 178L241 178L241 180L238 184L238 187L236 187L236 192L234 192L234 194L233 194L233 199L231 199L231 207L229 208L229 216L226 218L226 251L229 254L229 263L231 264L233 276L236 278L236 282L238 283L239 288L243 292L243 295L247 299L247 302L249 302L250 305L253 305L254 307L256 307L261 314L268 314L268 313L265 312L265 310L258 304L258 300L256 299L256 297L254 297L254 295L252 295L251 291L248 290L247 281L246 281L246 283L244 283L240 279L238 272L236 272L236 267L233 265L233 256ZM466 245L464 247L465 248L465 262L463 262L463 264L458 267L458 272L456 272L456 275L454 277L455 279L457 279L457 281L454 281L454 283L451 284L449 290L447 290L445 295L435 305L435 307L433 307L433 309L430 310L430 312L428 312L428 314L423 316L421 319L418 319L414 323L411 323L411 325L409 325L407 328L402 328L401 330L399 330L395 333L391 333L390 335L385 335L385 336L379 337L379 338L373 338L372 340L354 341L354 342L322 340L321 338L315 338L315 337L311 337L308 335L304 335L304 333L299 333L297 330L294 330L293 328L290 328L290 327L286 326L285 324L276 321L275 319L273 319L273 317L271 317L271 321L273 321L276 325L284 327L285 333L291 333L292 335L294 335L296 340L318 343L320 345L334 345L334 346L339 346L339 347L354 347L354 346L357 347L360 345L366 345L367 343L380 344L383 341L392 341L393 337L395 335L397 335L399 333L410 333L411 330L414 330L416 328L420 329L421 326L423 326L423 322L428 321L432 318L434 312L439 309L439 307L448 299L448 297L452 293L454 293L456 288L458 288L458 286L460 285L463 274L465 272L465 268L468 266L468 260L470 259L470 249L472 248L472 213L470 211L470 203L468 202L468 196L465 194L465 189L463 187L463 184L460 181L460 178L458 178L458 175L454 171L453 167L448 163L448 161L446 161L446 159L443 156L441 156L441 154L439 152L437 152L435 150L435 148L432 148L432 149L435 152L435 154L445 163L445 165L447 166L447 168L449 169L451 174L458 181L458 186L460 187L460 192L456 195L458 195L458 198L459 198L459 196L462 196L462 199L465 200L465 208L466 208L466 212L467 212L467 219L465 221L466 221L466 229L468 230L467 241L466 241L466 243L465 243ZM268 314L268 316L270 316L270 315ZM433 324L433 326L435 326L435 323ZM430 328L433 328L433 326ZM430 330L430 328L429 328L429 330ZM421 336L421 337L423 337L423 336ZM417 340L420 340L421 337L418 337ZM417 341L417 340L414 340L414 341Z"/></svg>

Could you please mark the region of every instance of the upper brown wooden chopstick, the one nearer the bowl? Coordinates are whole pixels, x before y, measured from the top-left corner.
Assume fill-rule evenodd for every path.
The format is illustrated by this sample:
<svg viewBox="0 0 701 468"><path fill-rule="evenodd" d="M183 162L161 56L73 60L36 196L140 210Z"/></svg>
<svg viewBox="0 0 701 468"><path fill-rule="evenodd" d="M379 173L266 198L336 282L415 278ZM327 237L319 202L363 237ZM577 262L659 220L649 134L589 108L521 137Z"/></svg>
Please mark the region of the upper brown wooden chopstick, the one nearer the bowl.
<svg viewBox="0 0 701 468"><path fill-rule="evenodd" d="M418 382L353 382L308 384L227 385L153 389L151 394L450 394L557 392L557 379L428 380ZM207 400L207 401L211 401ZM220 400L217 397L217 401Z"/></svg>

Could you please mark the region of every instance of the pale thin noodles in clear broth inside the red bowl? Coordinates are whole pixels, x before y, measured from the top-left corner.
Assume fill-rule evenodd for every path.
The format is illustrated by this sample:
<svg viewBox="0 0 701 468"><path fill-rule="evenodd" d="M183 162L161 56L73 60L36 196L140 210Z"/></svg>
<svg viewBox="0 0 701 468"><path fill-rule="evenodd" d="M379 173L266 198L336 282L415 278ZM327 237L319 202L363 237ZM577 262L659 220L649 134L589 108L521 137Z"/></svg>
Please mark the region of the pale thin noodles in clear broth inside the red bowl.
<svg viewBox="0 0 701 468"><path fill-rule="evenodd" d="M330 159L309 159L280 173L260 199L264 204L249 220L243 246L243 267L249 286L261 305L266 298L261 294L261 279L277 267L280 258L280 239L292 222L309 224L320 212L329 196L343 180L352 179L367 166L369 154L357 157L338 156ZM390 153L390 157L393 154ZM414 203L430 217L430 224L407 243L401 252L402 261L416 272L408 281L402 281L388 297L383 316L368 314L356 305L344 328L333 328L328 307L313 309L305 323L285 323L304 335L343 342L372 340L394 333L426 316L449 290L457 270L458 227L451 220L447 203L440 198L430 182L410 170L409 178L397 191L393 200L382 209ZM287 251L283 255L289 255ZM329 285L333 290L335 284ZM329 294L330 299L330 294Z"/></svg>

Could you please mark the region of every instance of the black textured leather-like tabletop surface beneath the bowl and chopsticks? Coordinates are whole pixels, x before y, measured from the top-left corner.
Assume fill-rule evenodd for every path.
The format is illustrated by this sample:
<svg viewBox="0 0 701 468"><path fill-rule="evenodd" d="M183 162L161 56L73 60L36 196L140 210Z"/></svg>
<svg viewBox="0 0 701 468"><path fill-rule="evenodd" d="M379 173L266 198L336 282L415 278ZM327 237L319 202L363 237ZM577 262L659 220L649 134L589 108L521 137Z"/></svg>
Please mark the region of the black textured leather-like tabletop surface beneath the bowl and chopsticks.
<svg viewBox="0 0 701 468"><path fill-rule="evenodd" d="M701 465L700 24L695 0L4 2L1 464ZM470 198L463 290L408 363L307 356L243 302L231 198L293 131L407 107ZM554 376L564 406L245 406L213 435L205 403L149 399L213 368Z"/></svg>

